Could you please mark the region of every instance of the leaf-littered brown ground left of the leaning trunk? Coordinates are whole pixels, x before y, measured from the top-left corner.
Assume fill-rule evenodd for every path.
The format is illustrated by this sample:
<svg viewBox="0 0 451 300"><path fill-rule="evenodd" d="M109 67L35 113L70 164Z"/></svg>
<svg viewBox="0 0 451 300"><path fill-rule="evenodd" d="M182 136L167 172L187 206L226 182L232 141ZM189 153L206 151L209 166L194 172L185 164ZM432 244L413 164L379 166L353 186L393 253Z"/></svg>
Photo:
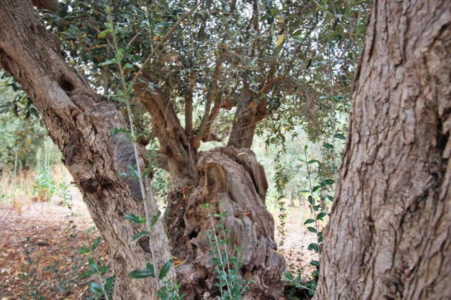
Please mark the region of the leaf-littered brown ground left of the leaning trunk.
<svg viewBox="0 0 451 300"><path fill-rule="evenodd" d="M87 209L74 208L74 223L66 206L27 202L21 209L0 204L0 299L86 299L88 270L78 249L88 244L84 229L93 227ZM72 226L75 226L71 229ZM91 242L99 236L90 233ZM105 244L99 251L103 259Z"/></svg>

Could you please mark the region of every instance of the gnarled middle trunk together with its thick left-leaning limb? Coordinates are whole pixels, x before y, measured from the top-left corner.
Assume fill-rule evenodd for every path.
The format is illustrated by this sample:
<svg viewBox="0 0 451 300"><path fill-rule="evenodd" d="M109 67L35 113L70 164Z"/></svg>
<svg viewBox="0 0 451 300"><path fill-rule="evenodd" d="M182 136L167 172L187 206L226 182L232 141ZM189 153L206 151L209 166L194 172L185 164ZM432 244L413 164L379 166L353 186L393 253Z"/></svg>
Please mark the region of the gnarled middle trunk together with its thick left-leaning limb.
<svg viewBox="0 0 451 300"><path fill-rule="evenodd" d="M145 85L143 89L137 86L135 91L152 114L153 132L168 161L171 193L165 220L172 254L184 260L176 269L182 292L187 293L187 299L196 299L205 292L212 297L219 294L214 286L217 274L210 263L211 249L204 234L211 223L208 212L200 207L210 203L219 211L228 211L225 224L230 229L226 238L232 238L230 249L233 250L233 245L243 247L246 264L241 268L241 276L255 281L246 299L280 298L284 258L276 252L273 218L264 205L266 177L255 155L248 148L234 146L198 153L163 91L149 92ZM246 124L255 128L255 118L247 123L246 120L237 121L240 124L237 130L249 127ZM252 136L253 131L250 136L238 137L237 145L250 145Z"/></svg>

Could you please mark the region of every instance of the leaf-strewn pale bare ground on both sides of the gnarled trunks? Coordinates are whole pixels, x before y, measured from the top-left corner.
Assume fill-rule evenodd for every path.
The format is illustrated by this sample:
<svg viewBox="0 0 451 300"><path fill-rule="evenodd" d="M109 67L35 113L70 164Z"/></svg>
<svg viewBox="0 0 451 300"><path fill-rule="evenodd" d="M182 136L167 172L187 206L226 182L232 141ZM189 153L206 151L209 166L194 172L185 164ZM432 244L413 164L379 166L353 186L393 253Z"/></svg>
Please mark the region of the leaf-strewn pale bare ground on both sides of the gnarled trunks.
<svg viewBox="0 0 451 300"><path fill-rule="evenodd" d="M77 252L88 243L83 231L94 223L78 191L73 189L72 193L72 211L59 200L0 202L1 300L90 298L87 283L92 279L76 279L87 271L86 258ZM277 226L278 212L273 215ZM289 208L284 238L275 234L278 245L284 240L279 252L287 259L288 270L300 272L304 280L314 270L309 262L318 260L316 254L307 250L309 243L315 241L314 233L303 225L308 217L303 208ZM96 236L98 231L90 233L91 242ZM103 242L99 248L108 265L108 249Z"/></svg>

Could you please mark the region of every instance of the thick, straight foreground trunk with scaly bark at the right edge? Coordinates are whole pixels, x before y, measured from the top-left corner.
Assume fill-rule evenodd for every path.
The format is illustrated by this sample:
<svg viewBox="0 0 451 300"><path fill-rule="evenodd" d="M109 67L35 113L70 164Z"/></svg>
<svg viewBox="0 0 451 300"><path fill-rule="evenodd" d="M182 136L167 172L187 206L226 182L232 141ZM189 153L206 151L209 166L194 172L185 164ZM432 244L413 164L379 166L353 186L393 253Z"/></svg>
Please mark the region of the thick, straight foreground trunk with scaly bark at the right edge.
<svg viewBox="0 0 451 300"><path fill-rule="evenodd" d="M314 299L451 297L451 2L375 1Z"/></svg>

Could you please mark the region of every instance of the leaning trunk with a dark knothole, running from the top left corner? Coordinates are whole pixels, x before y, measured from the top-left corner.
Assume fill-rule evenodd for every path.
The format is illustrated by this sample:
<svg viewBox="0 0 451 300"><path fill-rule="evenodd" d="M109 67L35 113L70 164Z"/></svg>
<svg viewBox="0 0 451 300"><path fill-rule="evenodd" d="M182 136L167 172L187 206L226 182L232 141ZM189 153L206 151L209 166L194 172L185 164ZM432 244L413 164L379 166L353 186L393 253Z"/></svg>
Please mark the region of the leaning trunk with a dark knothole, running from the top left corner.
<svg viewBox="0 0 451 300"><path fill-rule="evenodd" d="M110 248L117 275L114 299L156 299L153 279L128 278L132 270L144 269L151 256L146 241L131 241L144 226L125 219L126 214L144 216L144 209L139 183L118 176L136 164L131 141L111 134L114 128L126 128L124 117L113 104L98 102L85 80L69 68L58 38L46 32L31 1L1 1L0 28L0 67L33 99ZM156 203L149 206L155 214ZM161 267L171 258L161 222L152 235Z"/></svg>

